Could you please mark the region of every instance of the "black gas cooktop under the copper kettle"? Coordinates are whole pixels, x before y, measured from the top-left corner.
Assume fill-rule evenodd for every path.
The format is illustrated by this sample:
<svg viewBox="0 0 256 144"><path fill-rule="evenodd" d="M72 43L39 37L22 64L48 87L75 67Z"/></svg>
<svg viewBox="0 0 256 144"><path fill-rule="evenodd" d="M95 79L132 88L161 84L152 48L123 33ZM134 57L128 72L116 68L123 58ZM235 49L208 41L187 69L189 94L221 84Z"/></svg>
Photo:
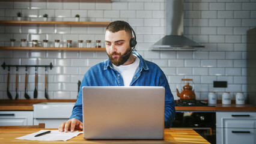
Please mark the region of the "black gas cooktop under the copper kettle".
<svg viewBox="0 0 256 144"><path fill-rule="evenodd" d="M200 100L178 100L175 101L175 106L214 106L208 105L205 101Z"/></svg>

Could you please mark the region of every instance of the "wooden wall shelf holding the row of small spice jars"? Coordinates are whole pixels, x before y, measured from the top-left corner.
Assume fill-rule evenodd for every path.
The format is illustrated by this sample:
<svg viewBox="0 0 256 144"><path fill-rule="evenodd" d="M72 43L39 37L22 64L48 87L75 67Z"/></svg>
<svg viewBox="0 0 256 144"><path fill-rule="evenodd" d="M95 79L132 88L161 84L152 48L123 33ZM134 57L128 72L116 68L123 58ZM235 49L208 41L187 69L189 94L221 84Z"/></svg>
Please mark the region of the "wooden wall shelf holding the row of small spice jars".
<svg viewBox="0 0 256 144"><path fill-rule="evenodd" d="M69 51L106 51L105 48L79 48L79 47L0 47L0 50L69 50Z"/></svg>

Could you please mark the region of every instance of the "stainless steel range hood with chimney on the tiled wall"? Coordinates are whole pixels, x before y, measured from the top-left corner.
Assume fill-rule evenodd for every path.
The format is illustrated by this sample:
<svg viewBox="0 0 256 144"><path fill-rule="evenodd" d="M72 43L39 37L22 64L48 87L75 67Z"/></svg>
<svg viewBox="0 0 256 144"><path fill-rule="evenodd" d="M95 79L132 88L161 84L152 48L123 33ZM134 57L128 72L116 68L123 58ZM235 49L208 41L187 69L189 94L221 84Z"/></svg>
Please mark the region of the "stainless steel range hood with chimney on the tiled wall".
<svg viewBox="0 0 256 144"><path fill-rule="evenodd" d="M198 50L203 45L183 35L184 0L166 0L166 35L151 50Z"/></svg>

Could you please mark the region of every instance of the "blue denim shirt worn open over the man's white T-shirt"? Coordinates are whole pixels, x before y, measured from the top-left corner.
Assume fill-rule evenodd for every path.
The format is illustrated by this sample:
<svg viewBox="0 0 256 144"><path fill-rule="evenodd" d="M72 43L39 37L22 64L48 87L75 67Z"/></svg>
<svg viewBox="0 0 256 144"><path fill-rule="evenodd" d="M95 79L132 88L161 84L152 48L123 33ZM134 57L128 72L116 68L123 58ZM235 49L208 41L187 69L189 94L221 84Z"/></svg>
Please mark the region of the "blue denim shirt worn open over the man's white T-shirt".
<svg viewBox="0 0 256 144"><path fill-rule="evenodd" d="M175 117L175 103L165 74L153 62L146 61L137 52L133 53L138 56L140 61L130 86L163 86L165 88L165 128L169 128ZM91 67L81 82L78 100L70 116L70 119L76 118L81 122L83 86L124 86L124 82L121 74L112 67L109 59Z"/></svg>

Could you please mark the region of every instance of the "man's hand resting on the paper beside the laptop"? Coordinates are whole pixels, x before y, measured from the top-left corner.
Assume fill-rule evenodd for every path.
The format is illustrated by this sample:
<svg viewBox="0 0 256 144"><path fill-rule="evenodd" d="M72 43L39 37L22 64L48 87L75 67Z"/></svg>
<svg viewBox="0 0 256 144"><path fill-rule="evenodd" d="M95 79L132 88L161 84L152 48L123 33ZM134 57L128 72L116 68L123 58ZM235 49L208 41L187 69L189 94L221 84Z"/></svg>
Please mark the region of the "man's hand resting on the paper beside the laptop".
<svg viewBox="0 0 256 144"><path fill-rule="evenodd" d="M59 131L67 133L67 131L73 132L75 129L83 129L83 123L79 121L78 119L69 119L67 122L63 122L61 125L59 125Z"/></svg>

